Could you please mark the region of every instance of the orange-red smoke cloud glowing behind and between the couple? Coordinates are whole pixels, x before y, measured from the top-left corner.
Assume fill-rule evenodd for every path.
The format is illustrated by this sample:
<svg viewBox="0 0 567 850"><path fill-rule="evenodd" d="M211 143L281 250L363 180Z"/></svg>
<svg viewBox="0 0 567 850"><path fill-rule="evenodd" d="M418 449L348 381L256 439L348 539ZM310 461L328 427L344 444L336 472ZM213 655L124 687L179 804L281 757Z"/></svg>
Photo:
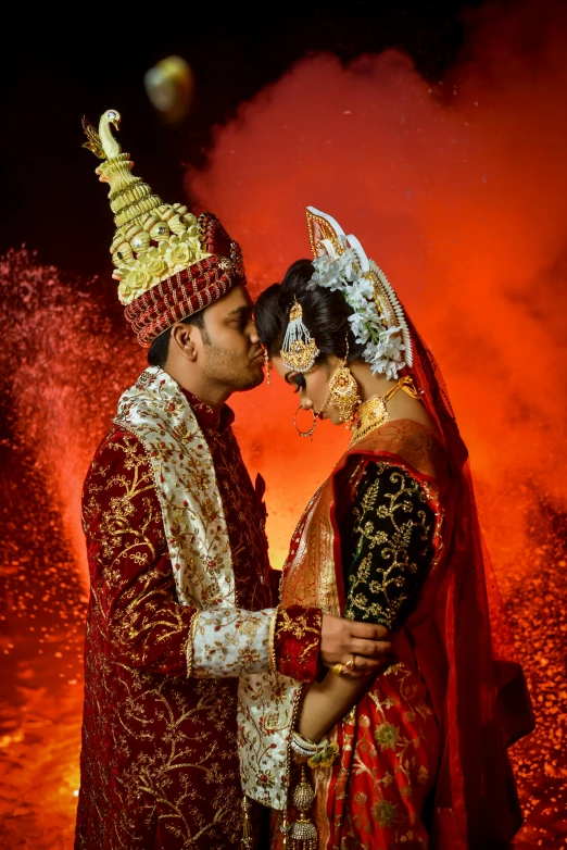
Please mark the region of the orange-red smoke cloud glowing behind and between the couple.
<svg viewBox="0 0 567 850"><path fill-rule="evenodd" d="M559 498L564 479L567 10L491 7L470 24L439 85L396 51L300 61L218 128L187 189L242 245L253 293L310 255L307 204L358 237L443 370L503 567L525 550L526 486ZM277 376L234 399L275 564L348 441L328 424L297 438L294 401Z"/></svg>

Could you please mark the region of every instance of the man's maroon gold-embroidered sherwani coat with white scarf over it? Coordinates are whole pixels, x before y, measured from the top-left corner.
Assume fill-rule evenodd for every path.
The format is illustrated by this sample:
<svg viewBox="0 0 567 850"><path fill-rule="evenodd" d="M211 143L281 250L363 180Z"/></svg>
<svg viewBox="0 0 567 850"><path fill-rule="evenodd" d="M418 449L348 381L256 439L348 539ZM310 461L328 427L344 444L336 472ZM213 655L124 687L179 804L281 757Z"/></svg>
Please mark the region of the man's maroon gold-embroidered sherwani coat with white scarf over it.
<svg viewBox="0 0 567 850"><path fill-rule="evenodd" d="M263 482L232 418L151 367L89 468L77 850L237 847L238 676L315 675L320 611L272 608Z"/></svg>

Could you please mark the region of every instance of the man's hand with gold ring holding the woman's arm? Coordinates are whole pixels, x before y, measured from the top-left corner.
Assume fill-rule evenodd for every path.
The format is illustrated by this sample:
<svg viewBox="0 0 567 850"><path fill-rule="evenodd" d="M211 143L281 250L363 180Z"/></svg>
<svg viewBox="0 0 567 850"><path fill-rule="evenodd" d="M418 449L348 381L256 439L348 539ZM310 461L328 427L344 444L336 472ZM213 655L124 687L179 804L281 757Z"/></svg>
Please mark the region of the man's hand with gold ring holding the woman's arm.
<svg viewBox="0 0 567 850"><path fill-rule="evenodd" d="M390 662L392 645L388 638L385 626L324 614L320 658L326 667L342 664L344 676L367 676ZM353 657L354 663L351 661ZM350 666L345 666L349 662Z"/></svg>

